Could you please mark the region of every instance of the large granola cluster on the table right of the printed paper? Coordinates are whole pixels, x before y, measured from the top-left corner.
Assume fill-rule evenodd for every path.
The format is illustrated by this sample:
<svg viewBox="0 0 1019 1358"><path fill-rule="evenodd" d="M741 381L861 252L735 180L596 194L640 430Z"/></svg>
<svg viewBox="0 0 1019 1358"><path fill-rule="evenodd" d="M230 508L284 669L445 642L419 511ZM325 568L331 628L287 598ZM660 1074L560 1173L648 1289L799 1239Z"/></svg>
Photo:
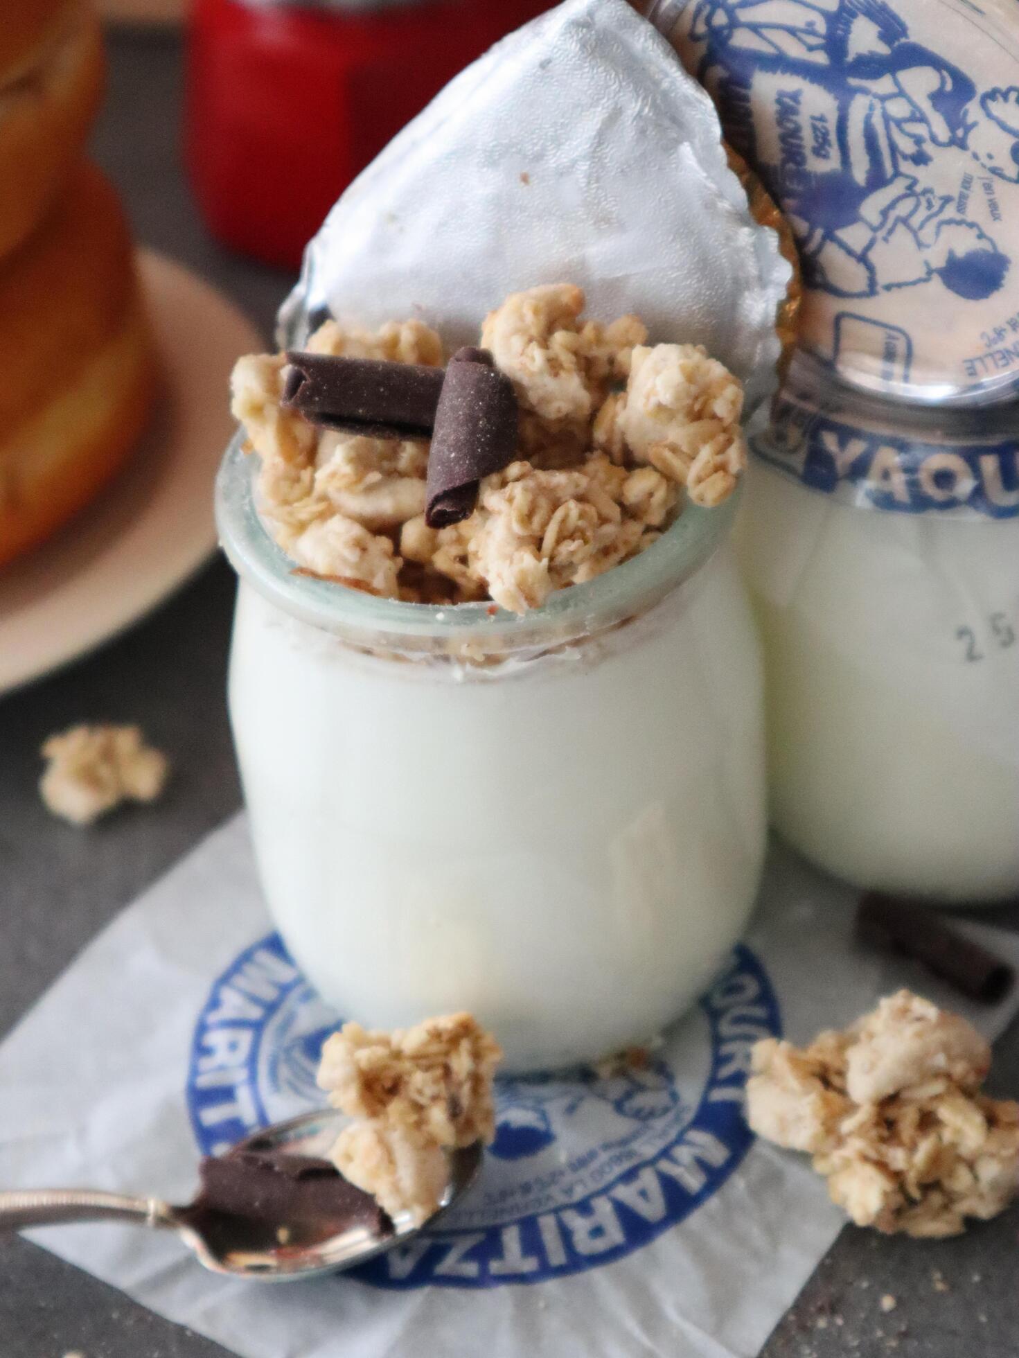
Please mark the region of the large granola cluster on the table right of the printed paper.
<svg viewBox="0 0 1019 1358"><path fill-rule="evenodd" d="M859 1226L954 1236L1019 1191L1019 1103L980 1093L989 1067L965 1019L902 990L809 1047L758 1042L748 1119L813 1156Z"/></svg>

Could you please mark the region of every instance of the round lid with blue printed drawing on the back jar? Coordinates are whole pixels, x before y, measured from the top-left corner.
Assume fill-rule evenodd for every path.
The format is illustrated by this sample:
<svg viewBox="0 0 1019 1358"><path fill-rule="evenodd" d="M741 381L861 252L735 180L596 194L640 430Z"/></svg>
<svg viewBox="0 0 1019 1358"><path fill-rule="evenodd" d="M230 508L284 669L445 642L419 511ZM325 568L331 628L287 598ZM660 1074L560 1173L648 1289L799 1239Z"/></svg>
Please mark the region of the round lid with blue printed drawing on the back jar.
<svg viewBox="0 0 1019 1358"><path fill-rule="evenodd" d="M802 344L844 382L1019 395L1019 4L654 0L787 215Z"/></svg>

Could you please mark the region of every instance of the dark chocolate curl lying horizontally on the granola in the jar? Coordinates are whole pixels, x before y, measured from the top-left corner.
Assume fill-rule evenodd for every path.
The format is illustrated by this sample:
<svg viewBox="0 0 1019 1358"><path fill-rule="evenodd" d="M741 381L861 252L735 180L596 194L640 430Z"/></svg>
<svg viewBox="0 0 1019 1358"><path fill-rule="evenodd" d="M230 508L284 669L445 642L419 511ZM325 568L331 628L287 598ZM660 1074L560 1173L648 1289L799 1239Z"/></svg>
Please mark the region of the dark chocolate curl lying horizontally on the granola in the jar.
<svg viewBox="0 0 1019 1358"><path fill-rule="evenodd" d="M288 353L282 405L312 424L370 439L427 439L442 368L384 359Z"/></svg>

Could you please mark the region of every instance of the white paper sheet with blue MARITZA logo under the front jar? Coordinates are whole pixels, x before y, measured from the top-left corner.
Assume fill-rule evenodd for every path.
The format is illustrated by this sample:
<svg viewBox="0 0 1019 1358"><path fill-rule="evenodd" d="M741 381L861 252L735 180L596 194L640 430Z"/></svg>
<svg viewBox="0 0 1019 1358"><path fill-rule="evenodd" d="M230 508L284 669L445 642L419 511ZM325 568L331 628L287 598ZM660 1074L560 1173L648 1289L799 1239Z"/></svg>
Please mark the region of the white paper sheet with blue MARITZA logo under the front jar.
<svg viewBox="0 0 1019 1358"><path fill-rule="evenodd" d="M507 1082L457 1218L366 1275L265 1287L174 1237L39 1230L39 1244L243 1358L723 1358L756 1354L841 1226L803 1158L752 1142L749 1044L805 1040L909 983L999 1032L1016 1001L959 1004L855 951L855 894L783 849L719 982L627 1077ZM974 933L1019 960L1019 937ZM0 1180L186 1200L199 1143L315 1101L335 1021L289 967L243 818L126 909L0 1048Z"/></svg>

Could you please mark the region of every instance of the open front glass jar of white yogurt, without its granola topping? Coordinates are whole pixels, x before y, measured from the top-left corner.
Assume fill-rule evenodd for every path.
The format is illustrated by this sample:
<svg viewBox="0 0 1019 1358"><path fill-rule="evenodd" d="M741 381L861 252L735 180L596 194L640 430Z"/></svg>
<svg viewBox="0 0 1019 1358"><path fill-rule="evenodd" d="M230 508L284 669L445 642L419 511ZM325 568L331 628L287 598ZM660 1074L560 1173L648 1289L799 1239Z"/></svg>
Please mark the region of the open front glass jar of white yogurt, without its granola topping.
<svg viewBox="0 0 1019 1358"><path fill-rule="evenodd" d="M384 1028L468 1008L512 1070L657 1033L739 937L764 857L734 502L512 615L294 574L251 481L237 441L217 489L231 717L309 980Z"/></svg>

